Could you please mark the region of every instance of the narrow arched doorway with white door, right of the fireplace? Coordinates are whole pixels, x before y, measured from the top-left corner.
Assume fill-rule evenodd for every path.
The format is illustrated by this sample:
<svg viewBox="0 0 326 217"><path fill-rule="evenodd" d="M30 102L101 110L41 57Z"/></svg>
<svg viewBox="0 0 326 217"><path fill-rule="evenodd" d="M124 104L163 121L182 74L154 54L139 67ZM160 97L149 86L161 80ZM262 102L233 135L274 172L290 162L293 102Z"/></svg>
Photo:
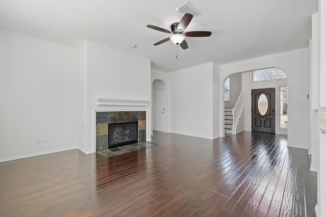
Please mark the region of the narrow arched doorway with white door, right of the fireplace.
<svg viewBox="0 0 326 217"><path fill-rule="evenodd" d="M153 81L153 130L164 132L165 85L161 80Z"/></svg>

